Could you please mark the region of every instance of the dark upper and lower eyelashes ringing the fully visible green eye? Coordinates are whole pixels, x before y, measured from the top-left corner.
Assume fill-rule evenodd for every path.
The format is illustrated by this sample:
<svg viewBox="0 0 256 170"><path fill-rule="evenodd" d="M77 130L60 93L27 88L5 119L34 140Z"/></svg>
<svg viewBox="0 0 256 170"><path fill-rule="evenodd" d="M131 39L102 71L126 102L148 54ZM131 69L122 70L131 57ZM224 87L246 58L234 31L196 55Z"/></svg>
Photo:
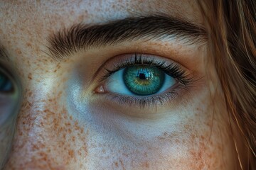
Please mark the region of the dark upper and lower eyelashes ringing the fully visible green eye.
<svg viewBox="0 0 256 170"><path fill-rule="evenodd" d="M182 69L178 64L172 62L171 64L166 64L166 62L156 62L154 59L149 57L144 57L143 54L135 53L134 56L129 57L127 60L119 60L117 64L114 64L114 69L105 69L105 76L100 79L100 82L107 80L115 72L123 69L125 67L133 65L148 65L154 66L158 69L161 69L170 77L173 77L178 81L176 86L171 88L171 90L164 92L163 94L154 95L154 96L122 96L119 94L109 94L112 99L117 99L120 104L128 104L129 106L139 106L144 108L146 106L156 106L157 104L163 105L168 101L174 101L182 91L187 91L193 82L191 74L186 74L186 71Z"/></svg>

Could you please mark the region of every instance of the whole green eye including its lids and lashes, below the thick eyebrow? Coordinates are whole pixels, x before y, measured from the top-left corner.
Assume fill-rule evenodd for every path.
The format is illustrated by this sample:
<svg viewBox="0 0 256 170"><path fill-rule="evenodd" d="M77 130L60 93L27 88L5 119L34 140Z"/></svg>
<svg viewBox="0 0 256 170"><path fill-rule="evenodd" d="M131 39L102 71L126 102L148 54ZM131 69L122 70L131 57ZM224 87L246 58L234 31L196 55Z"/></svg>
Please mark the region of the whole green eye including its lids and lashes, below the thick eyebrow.
<svg viewBox="0 0 256 170"><path fill-rule="evenodd" d="M103 67L106 72L95 93L133 106L174 100L193 81L178 63L155 55L123 55Z"/></svg>

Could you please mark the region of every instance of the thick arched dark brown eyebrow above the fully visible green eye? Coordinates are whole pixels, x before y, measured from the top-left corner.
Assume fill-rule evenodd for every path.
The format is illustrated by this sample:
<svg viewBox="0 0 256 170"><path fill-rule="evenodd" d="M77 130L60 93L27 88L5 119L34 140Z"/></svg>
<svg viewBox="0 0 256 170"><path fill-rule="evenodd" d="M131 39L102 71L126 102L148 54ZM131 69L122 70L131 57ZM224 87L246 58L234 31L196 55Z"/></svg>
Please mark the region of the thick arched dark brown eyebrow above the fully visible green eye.
<svg viewBox="0 0 256 170"><path fill-rule="evenodd" d="M207 33L203 27L171 16L142 16L124 18L102 25L76 24L50 36L48 49L55 60L63 60L78 50L114 45L122 41L161 40L182 38L186 42L204 42Z"/></svg>

